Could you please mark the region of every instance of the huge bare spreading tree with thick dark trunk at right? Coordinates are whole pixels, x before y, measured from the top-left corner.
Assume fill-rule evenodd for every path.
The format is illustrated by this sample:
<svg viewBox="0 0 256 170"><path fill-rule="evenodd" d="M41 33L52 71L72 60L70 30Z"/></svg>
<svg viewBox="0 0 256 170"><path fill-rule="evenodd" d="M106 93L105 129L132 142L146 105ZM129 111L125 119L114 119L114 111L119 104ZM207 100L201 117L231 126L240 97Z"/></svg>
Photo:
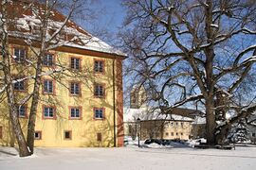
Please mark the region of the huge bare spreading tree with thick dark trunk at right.
<svg viewBox="0 0 256 170"><path fill-rule="evenodd" d="M133 56L133 81L144 85L163 113L201 106L208 144L223 143L230 124L256 110L255 93L236 105L237 93L249 84L255 92L255 81L249 81L256 61L255 1L129 0L124 5L128 28L121 37Z"/></svg>

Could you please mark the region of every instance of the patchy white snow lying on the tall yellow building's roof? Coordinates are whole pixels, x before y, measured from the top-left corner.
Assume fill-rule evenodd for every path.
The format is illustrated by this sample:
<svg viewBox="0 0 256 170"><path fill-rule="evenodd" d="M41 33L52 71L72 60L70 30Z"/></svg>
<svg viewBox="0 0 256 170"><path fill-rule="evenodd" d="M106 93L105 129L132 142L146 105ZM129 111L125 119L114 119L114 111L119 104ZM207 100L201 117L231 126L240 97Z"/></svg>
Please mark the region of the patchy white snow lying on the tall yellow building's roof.
<svg viewBox="0 0 256 170"><path fill-rule="evenodd" d="M36 40L38 39L38 35L32 35L29 31L35 31L40 28L42 25L41 20L39 19L39 16L36 14L36 12L32 12L32 15L25 15L23 14L20 18L15 18L16 26L18 28L17 31L11 31L9 32L10 35L16 36L16 37L22 37L27 38L29 40ZM101 41L99 38L94 37L93 35L89 34L86 30L82 29L82 27L77 26L73 22L68 21L71 26L65 26L65 21L60 22L56 20L49 20L48 22L48 30L55 30L55 34L52 36L49 36L49 34L46 36L47 41L54 42L52 40L53 37L55 37L56 34L60 32L61 29L64 30L65 33L74 35L77 39L82 41L83 44L78 44L76 41L74 42L66 42L65 46L70 47L76 47L86 50L93 50L93 51L99 51L104 53L110 53L110 54L117 54L119 56L127 56L125 53L119 51L118 49L110 46L106 42ZM27 31L27 32L24 32ZM58 36L57 36L58 37ZM56 41L56 40L55 40ZM64 41L63 41L64 42Z"/></svg>

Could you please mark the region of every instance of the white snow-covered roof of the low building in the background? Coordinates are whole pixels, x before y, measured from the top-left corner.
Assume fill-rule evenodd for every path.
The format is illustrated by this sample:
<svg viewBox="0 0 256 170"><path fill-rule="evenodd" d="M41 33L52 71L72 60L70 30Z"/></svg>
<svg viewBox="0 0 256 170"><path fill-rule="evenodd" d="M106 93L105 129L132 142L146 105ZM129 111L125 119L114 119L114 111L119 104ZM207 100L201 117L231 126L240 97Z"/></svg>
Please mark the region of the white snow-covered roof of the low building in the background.
<svg viewBox="0 0 256 170"><path fill-rule="evenodd" d="M175 121L190 121L193 119L186 116L177 114L162 114L160 110L150 110L149 108L142 109L123 109L123 121L124 122L135 122L139 118L142 121L146 120L175 120Z"/></svg>

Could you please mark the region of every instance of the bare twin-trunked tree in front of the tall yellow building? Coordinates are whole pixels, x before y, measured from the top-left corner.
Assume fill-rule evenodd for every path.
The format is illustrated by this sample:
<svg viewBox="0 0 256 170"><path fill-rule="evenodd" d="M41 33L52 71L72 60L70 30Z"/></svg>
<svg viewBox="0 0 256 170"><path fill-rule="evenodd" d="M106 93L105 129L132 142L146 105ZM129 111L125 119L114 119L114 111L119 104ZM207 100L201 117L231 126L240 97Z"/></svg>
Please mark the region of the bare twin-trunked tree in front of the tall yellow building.
<svg viewBox="0 0 256 170"><path fill-rule="evenodd" d="M1 93L6 93L8 96L9 118L15 139L19 144L21 157L33 154L36 112L41 99L41 77L52 76L58 81L56 77L60 75L82 76L79 73L70 71L70 68L61 62L44 70L43 66L46 64L45 57L47 52L63 45L70 45L73 42L80 42L86 45L86 43L98 41L97 39L94 40L93 36L84 32L82 28L78 28L71 21L75 15L78 15L78 11L80 11L80 14L88 12L89 8L86 6L88 3L89 1L80 0L2 1L1 47L3 61L1 66L3 67L5 82L2 83ZM60 11L64 11L66 15L64 16ZM30 13L30 15L23 17L26 12ZM55 15L58 17L57 21ZM16 77L12 75L11 69L15 68L17 63L11 64L10 60L16 60L17 57L9 52L9 44L11 41L19 39L24 40L25 45L32 54L30 54L29 58L25 55L25 58L19 59L25 67L19 70L19 75ZM23 97L14 95L13 84L27 80L33 81L31 85L33 90ZM61 81L61 79L59 80ZM28 101L31 102L31 106L29 107L26 140L20 126L16 105L22 106Z"/></svg>

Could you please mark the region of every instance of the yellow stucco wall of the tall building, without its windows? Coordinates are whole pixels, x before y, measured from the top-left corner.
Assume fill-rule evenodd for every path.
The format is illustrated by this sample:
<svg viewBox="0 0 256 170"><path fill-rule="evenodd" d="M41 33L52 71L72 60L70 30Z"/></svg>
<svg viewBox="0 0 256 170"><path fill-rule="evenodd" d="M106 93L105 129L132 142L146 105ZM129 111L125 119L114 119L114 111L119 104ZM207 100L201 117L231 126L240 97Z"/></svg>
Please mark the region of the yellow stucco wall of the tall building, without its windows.
<svg viewBox="0 0 256 170"><path fill-rule="evenodd" d="M97 58L93 56L84 56L64 52L55 52L57 63L64 67L69 66L70 57L79 57L82 59L82 71L77 72L64 71L64 74L55 74L55 95L42 94L40 91L40 103L37 111L35 130L42 131L42 139L35 140L35 146L113 146L114 144L114 110L113 110L113 59ZM28 51L31 55L31 52ZM28 55L29 56L29 55ZM94 59L104 61L104 73L95 74L93 72ZM16 67L16 66L15 66ZM27 66L12 68L13 74L17 74L21 69ZM55 69L61 69L57 66ZM44 71L48 71L44 68ZM33 69L27 67L23 71L24 75L33 72ZM43 76L43 78L53 78ZM57 80L58 79L58 80ZM67 87L69 81L82 82L82 96L70 96ZM28 93L31 92L33 80L27 81ZM96 98L94 96L94 84L101 83L105 87L105 97ZM21 98L27 93L16 93ZM55 106L56 116L54 120L43 119L43 105ZM82 107L82 120L69 120L68 106ZM27 102L27 112L29 112L30 101ZM104 108L104 119L94 119L94 108ZM3 127L3 139L0 143L3 145L11 143L11 133L9 132L9 112L7 102L0 103L0 126ZM27 119L20 118L24 132L26 133ZM64 130L72 130L72 139L64 140ZM102 134L102 141L97 141L97 133Z"/></svg>

